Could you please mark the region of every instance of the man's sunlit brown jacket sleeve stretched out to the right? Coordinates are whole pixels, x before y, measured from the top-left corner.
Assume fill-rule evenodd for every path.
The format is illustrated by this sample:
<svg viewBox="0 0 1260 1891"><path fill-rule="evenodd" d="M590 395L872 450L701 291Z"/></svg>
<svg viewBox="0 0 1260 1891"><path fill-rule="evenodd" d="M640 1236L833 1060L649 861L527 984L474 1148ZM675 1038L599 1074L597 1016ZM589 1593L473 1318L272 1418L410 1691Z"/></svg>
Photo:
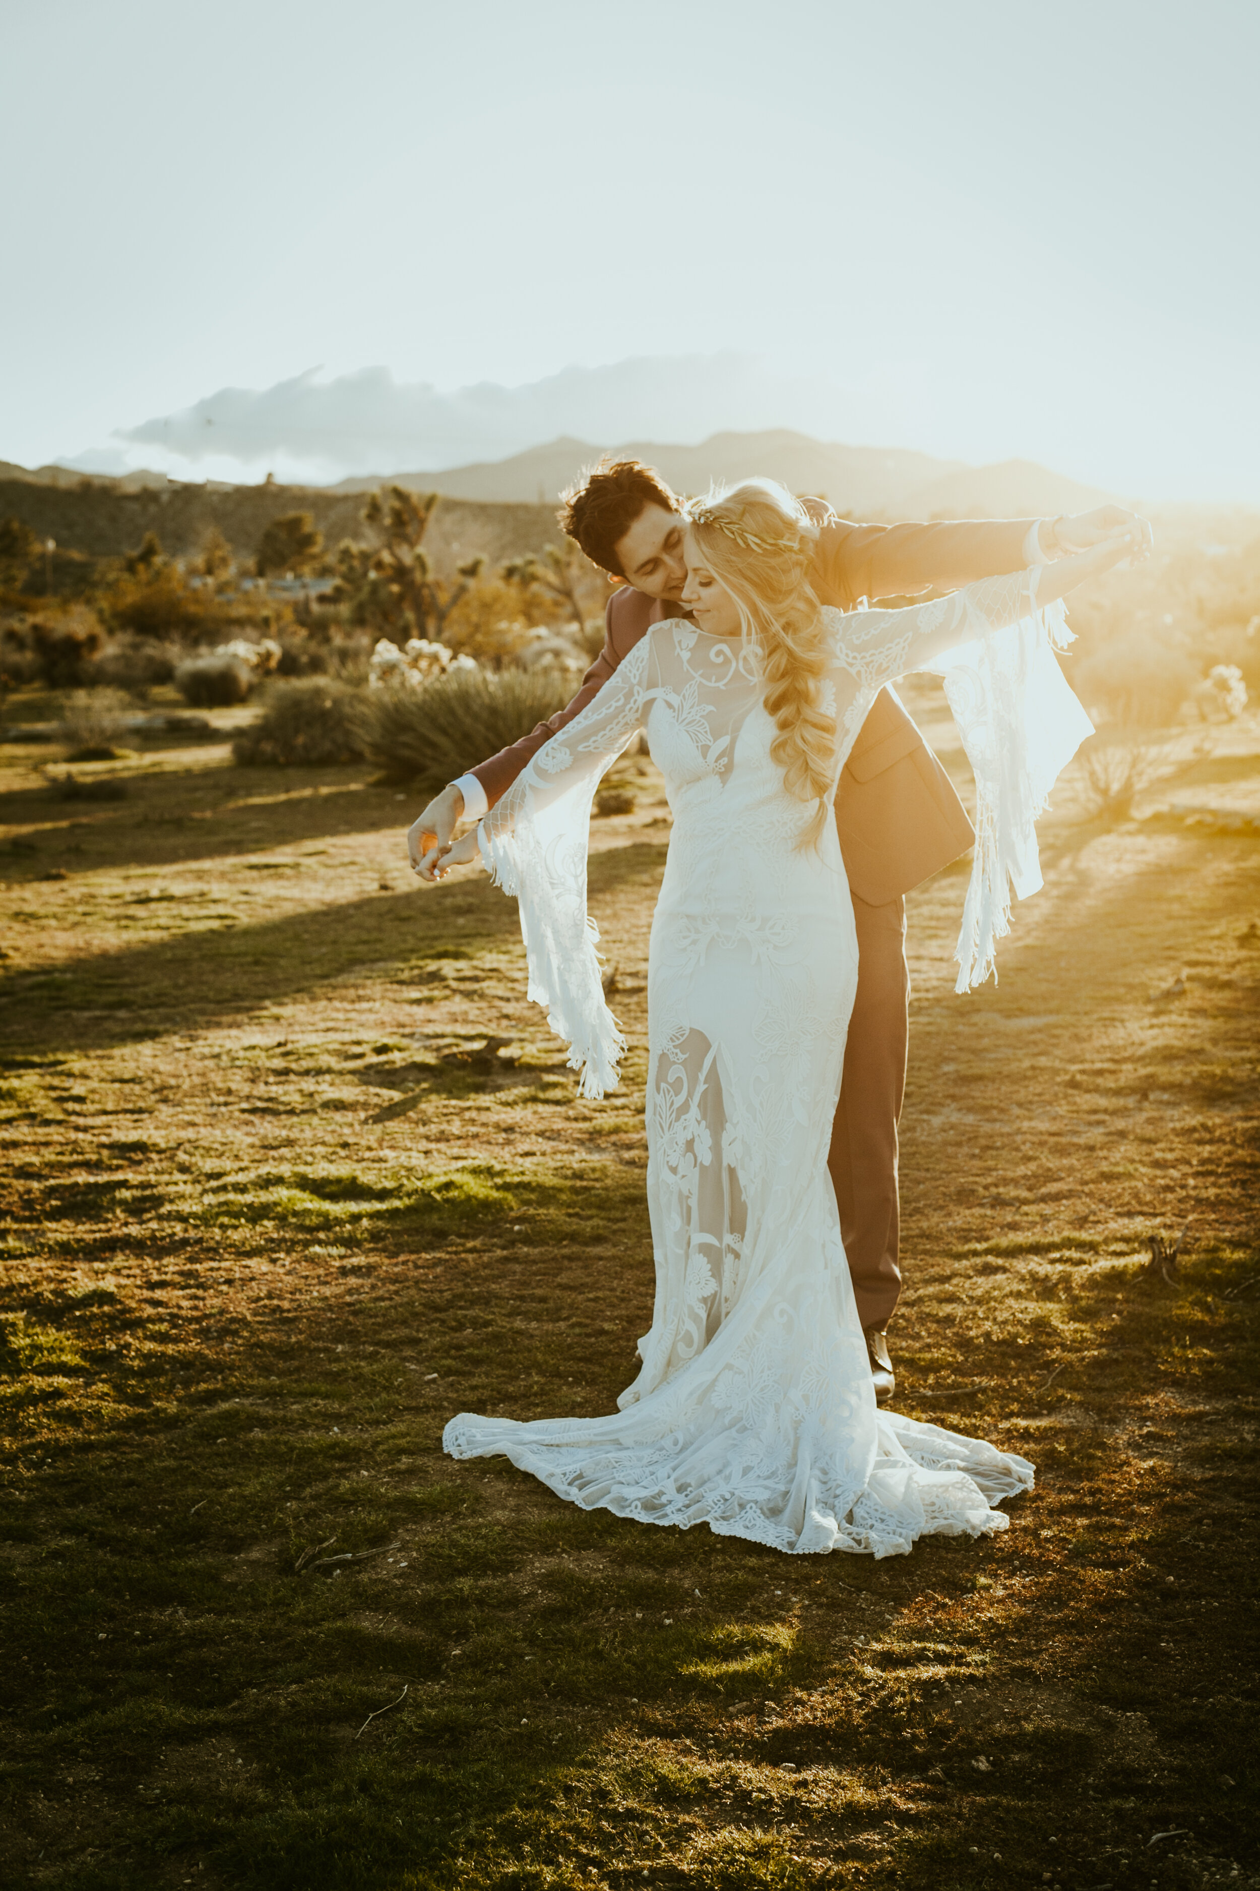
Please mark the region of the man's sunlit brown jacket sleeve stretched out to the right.
<svg viewBox="0 0 1260 1891"><path fill-rule="evenodd" d="M962 590L1041 564L1039 520L939 520L928 526L856 526L831 514L814 554L822 603L852 609L860 598L912 598L924 590Z"/></svg>

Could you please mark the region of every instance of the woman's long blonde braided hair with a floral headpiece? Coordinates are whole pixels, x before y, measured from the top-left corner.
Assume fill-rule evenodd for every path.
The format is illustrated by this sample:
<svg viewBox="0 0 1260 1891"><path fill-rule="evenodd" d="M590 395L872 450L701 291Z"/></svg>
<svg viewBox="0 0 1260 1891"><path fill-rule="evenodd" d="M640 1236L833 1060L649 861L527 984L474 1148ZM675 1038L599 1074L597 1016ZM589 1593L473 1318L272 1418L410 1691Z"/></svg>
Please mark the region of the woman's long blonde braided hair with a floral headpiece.
<svg viewBox="0 0 1260 1891"><path fill-rule="evenodd" d="M744 635L759 647L765 707L778 728L771 755L788 794L818 804L801 838L809 845L827 819L837 749L835 717L822 702L826 628L809 582L818 528L771 478L710 488L686 516L707 567L739 605Z"/></svg>

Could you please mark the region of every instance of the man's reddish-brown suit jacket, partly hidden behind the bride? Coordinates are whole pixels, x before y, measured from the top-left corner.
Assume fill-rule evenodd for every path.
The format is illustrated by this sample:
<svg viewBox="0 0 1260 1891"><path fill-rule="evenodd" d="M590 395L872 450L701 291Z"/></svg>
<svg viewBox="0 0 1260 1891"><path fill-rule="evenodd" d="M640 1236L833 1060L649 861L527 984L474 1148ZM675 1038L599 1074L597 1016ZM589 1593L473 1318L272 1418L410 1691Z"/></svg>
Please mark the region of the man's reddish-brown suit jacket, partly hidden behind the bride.
<svg viewBox="0 0 1260 1891"><path fill-rule="evenodd" d="M861 599L958 590L975 579L1024 569L1020 520L950 520L933 526L854 526L818 499L822 526L810 582L820 603L852 611ZM678 605L623 586L604 611L604 647L572 702L529 736L472 770L493 807L552 736L586 709L652 624ZM835 824L850 891L886 906L937 874L975 840L971 821L935 755L890 690L880 690L852 747L835 796Z"/></svg>

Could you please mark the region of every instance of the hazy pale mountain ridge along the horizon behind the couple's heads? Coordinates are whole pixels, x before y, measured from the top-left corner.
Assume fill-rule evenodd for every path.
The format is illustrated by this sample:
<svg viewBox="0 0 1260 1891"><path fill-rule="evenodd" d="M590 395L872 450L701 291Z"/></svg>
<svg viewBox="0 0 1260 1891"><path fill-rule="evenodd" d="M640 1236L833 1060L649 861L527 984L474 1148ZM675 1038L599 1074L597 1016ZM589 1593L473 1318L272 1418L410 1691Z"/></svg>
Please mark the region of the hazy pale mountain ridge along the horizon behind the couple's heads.
<svg viewBox="0 0 1260 1891"><path fill-rule="evenodd" d="M705 492L712 480L741 480L754 475L782 480L790 492L818 494L846 518L1041 518L1054 512L1082 512L1103 505L1113 494L1052 473L1031 460L1005 460L999 465L969 467L962 460L935 460L931 454L894 446L844 446L814 441L790 427L763 433L714 433L699 446L661 441L631 441L603 448L589 441L561 437L508 460L423 473L380 473L346 478L334 486L295 488L325 497L351 497L383 484L412 492L440 492L448 499L478 505L555 505L559 494L582 467L604 452L644 460L680 494ZM55 488L106 488L111 492L215 490L257 492L257 486L227 486L172 480L162 473L132 471L117 478L83 475L70 467L25 467L0 461L0 478L32 480Z"/></svg>

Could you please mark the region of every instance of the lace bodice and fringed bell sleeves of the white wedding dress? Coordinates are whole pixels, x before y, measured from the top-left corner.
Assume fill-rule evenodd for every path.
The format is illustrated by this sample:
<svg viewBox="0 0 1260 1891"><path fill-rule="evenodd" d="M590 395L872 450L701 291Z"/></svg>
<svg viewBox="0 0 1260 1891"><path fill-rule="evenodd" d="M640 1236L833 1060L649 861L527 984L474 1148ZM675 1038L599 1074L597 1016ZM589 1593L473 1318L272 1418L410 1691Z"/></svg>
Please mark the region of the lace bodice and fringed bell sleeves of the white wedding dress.
<svg viewBox="0 0 1260 1891"><path fill-rule="evenodd" d="M1043 624L1035 588L1037 571L1018 571L903 611L824 611L837 781L877 692L911 669L945 671L979 783L960 991L992 968L994 940L1007 930L1009 879L1020 896L1041 885L1033 821L1092 728L1050 654L1052 643L1067 641L1062 605L1043 613ZM623 1050L603 1000L599 930L586 911L589 813L599 777L637 730L648 734L674 813L661 898L688 887L697 949L716 936L718 921L727 936L735 928L773 949L792 928L792 908L776 906L775 894L788 898L788 881L801 885L816 864L795 847L812 807L784 792L771 760L756 652L705 637L686 620L656 624L482 823L485 866L521 902L529 997L570 1046L587 1097L616 1085ZM831 824L818 860L843 874Z"/></svg>

